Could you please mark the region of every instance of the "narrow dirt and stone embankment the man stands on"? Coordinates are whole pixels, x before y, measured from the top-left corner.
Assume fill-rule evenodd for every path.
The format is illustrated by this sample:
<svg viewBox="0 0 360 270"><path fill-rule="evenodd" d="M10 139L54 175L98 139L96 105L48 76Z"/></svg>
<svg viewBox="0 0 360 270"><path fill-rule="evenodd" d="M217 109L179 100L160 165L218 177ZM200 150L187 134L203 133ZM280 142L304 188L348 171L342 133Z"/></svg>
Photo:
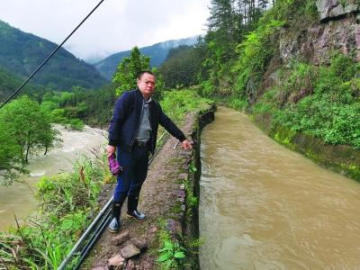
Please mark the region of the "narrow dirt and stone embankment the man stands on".
<svg viewBox="0 0 360 270"><path fill-rule="evenodd" d="M157 250L162 246L159 243L160 223L165 224L173 238L184 240L198 236L197 205L189 206L187 202L198 190L195 179L200 170L194 167L199 160L200 132L203 125L213 120L213 111L211 108L199 115L187 115L182 130L188 139L193 139L193 151L185 151L170 137L150 164L139 197L139 210L146 213L147 219L138 221L127 217L125 202L121 211L121 231L113 234L106 229L82 269L158 269ZM113 187L104 192L107 200L112 196ZM139 254L130 256L126 254L128 251L132 254L139 251ZM190 267L198 268L196 253L187 251ZM114 263L109 263L109 259Z"/></svg>

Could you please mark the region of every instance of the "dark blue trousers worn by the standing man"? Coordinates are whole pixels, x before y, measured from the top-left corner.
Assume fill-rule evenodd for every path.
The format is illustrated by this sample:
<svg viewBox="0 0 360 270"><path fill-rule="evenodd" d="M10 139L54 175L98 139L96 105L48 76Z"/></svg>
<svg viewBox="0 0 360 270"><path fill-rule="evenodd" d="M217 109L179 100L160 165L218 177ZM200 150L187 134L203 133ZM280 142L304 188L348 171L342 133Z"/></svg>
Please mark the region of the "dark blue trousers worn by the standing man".
<svg viewBox="0 0 360 270"><path fill-rule="evenodd" d="M114 202L123 202L126 196L139 198L141 185L148 174L148 147L134 146L129 153L118 148L118 162L122 166L122 173L118 175L118 182L113 194Z"/></svg>

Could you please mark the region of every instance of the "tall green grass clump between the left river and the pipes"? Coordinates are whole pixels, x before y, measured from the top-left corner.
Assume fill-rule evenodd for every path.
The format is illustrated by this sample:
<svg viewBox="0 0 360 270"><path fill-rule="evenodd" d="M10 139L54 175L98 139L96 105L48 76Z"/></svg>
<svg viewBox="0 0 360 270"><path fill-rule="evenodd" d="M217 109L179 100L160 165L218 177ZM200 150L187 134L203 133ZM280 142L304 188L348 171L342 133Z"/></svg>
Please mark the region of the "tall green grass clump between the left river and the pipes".
<svg viewBox="0 0 360 270"><path fill-rule="evenodd" d="M58 268L90 224L103 179L110 175L106 157L93 153L94 159L79 157L71 173L40 179L37 217L0 234L1 269Z"/></svg>

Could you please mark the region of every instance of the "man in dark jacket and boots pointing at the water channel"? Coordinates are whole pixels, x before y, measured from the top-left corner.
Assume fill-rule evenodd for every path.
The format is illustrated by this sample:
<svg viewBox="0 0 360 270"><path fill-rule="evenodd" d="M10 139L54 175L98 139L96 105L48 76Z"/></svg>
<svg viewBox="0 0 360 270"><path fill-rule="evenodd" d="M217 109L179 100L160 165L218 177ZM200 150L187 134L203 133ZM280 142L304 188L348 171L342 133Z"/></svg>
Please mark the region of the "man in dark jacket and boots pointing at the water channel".
<svg viewBox="0 0 360 270"><path fill-rule="evenodd" d="M156 76L150 71L139 73L138 88L125 92L115 104L109 129L108 157L115 153L123 172L118 175L112 202L111 232L118 232L121 226L121 206L128 197L128 215L144 220L145 214L138 210L139 193L148 173L148 152L154 154L157 143L158 124L182 142L184 149L191 149L192 143L173 121L151 98L155 91Z"/></svg>

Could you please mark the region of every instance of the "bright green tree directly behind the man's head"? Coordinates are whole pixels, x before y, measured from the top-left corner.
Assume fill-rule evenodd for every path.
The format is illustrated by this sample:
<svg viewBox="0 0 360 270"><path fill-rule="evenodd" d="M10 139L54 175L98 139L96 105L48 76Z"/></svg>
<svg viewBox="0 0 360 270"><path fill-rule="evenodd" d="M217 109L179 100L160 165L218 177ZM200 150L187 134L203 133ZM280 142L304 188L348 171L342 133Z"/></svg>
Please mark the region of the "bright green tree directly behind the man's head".
<svg viewBox="0 0 360 270"><path fill-rule="evenodd" d="M112 82L116 87L116 94L121 95L123 92L136 88L136 79L142 70L150 69L150 58L141 55L139 48L131 49L129 58L122 58Z"/></svg>

